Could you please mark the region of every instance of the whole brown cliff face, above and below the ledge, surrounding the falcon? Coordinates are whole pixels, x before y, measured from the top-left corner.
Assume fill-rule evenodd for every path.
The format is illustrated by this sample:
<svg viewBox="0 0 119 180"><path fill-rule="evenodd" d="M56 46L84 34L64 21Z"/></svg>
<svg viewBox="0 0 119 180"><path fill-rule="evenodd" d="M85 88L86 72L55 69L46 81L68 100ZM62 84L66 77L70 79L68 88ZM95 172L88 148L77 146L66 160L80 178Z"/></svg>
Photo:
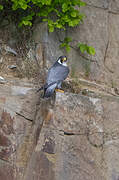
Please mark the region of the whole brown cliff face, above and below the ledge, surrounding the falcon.
<svg viewBox="0 0 119 180"><path fill-rule="evenodd" d="M67 33L49 34L47 24L37 24L35 51L31 47L25 60L14 49L15 27L8 44L0 45L1 180L119 179L119 2L86 2L85 22ZM59 48L66 35L74 39L69 54ZM79 41L95 47L96 55L82 55ZM80 93L42 99L36 85L61 54L68 56L70 79Z"/></svg>

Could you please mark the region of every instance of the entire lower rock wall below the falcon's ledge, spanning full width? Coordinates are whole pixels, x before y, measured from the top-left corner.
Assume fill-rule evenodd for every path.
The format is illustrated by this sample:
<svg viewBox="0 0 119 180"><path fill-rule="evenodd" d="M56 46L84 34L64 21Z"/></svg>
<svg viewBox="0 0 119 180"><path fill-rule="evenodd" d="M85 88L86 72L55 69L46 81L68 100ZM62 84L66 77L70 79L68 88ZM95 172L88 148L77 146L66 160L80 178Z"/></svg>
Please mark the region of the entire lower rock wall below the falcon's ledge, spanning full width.
<svg viewBox="0 0 119 180"><path fill-rule="evenodd" d="M14 107L5 96L0 97L2 179L119 178L119 98L57 93L54 101L29 90L11 97Z"/></svg>

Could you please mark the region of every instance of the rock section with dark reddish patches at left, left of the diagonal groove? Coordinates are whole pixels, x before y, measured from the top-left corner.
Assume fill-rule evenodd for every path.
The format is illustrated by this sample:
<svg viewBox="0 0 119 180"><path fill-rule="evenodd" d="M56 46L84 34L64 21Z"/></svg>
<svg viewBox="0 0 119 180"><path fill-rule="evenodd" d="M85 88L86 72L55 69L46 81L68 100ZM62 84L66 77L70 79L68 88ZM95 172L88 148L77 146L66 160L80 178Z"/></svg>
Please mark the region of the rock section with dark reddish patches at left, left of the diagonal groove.
<svg viewBox="0 0 119 180"><path fill-rule="evenodd" d="M12 79L10 84L0 85L1 179L16 179L14 176L16 171L16 151L23 141L25 129L28 129L29 125L31 125L30 118L32 119L34 116L34 110L30 107L34 100L28 98L27 95L27 92L32 88L32 83L19 81L18 79ZM31 104L30 100L32 101ZM25 106L27 108L24 109ZM24 117L27 117L27 120Z"/></svg>

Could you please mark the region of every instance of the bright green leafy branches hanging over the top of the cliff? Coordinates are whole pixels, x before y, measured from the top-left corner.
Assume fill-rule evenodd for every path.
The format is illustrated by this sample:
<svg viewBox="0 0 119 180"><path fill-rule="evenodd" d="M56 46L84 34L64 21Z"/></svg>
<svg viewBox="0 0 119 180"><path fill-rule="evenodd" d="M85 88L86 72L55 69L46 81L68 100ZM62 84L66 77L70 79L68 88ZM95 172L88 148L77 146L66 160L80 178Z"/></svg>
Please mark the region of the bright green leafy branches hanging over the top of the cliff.
<svg viewBox="0 0 119 180"><path fill-rule="evenodd" d="M83 22L85 15L80 7L86 3L82 0L1 0L1 19L10 17L19 27L33 26L36 19L47 22L49 32L56 28L66 30ZM3 18L2 18L3 17ZM70 51L72 39L66 37L61 48ZM77 47L82 53L95 54L95 49L86 44L78 43Z"/></svg>

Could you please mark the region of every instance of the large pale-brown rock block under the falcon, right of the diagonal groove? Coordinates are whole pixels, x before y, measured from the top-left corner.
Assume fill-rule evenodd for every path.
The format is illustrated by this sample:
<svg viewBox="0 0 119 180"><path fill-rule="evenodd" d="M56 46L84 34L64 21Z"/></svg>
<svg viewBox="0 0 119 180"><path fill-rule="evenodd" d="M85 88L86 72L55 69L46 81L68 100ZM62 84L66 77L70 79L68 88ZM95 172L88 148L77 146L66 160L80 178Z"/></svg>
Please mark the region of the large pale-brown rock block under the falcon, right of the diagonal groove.
<svg viewBox="0 0 119 180"><path fill-rule="evenodd" d="M118 117L119 101L58 93L25 179L118 179L118 122L112 106Z"/></svg>

